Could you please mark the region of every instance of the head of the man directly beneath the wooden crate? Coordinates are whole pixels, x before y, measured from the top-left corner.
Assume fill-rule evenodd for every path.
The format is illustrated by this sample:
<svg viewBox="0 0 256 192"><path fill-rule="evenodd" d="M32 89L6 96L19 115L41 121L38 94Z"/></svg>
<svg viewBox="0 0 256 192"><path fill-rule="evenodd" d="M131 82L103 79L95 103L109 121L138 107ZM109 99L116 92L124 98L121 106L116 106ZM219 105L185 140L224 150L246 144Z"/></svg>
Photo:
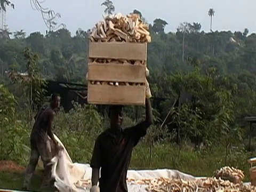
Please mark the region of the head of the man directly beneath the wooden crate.
<svg viewBox="0 0 256 192"><path fill-rule="evenodd" d="M111 128L120 128L123 123L123 106L111 106L109 108L109 118Z"/></svg>

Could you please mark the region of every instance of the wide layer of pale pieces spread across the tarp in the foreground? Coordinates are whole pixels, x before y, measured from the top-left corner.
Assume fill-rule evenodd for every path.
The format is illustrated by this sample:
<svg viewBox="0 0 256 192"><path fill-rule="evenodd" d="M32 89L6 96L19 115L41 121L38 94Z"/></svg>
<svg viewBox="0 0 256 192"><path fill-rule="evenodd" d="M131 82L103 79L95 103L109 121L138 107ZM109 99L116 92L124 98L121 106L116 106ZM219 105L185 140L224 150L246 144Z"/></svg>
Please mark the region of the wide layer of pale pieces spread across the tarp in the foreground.
<svg viewBox="0 0 256 192"><path fill-rule="evenodd" d="M147 185L147 191L151 192L238 192L238 191L256 191L256 187L243 185L242 183L233 183L228 180L206 178L195 180L183 179L144 179L129 180L134 185Z"/></svg>

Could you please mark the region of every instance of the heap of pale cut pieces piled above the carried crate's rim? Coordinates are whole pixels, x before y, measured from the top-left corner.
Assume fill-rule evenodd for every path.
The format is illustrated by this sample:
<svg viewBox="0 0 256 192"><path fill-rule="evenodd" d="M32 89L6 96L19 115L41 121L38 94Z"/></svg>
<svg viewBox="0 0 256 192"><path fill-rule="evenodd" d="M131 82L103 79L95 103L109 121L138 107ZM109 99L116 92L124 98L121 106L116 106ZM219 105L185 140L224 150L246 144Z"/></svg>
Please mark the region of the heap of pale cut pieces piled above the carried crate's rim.
<svg viewBox="0 0 256 192"><path fill-rule="evenodd" d="M126 16L118 13L103 19L96 23L89 39L91 42L151 42L148 25L142 23L135 13Z"/></svg>

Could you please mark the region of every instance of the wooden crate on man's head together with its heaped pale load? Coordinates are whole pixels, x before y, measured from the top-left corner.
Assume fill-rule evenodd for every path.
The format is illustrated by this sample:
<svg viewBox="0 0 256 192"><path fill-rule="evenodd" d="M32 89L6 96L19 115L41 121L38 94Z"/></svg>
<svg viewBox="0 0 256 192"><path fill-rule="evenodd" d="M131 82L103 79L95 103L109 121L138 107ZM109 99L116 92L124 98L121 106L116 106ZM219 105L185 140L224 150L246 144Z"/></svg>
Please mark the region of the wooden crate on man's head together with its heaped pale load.
<svg viewBox="0 0 256 192"><path fill-rule="evenodd" d="M138 14L118 13L89 34L87 101L98 105L145 105L151 97L146 76L148 26Z"/></svg>

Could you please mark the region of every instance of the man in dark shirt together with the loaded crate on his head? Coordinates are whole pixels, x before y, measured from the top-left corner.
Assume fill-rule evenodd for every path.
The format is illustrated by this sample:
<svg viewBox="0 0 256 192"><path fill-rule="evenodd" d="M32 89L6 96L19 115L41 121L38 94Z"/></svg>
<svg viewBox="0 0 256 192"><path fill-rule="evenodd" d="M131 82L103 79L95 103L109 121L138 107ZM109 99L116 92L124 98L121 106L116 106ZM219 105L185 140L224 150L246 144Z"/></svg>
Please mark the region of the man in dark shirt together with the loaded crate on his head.
<svg viewBox="0 0 256 192"><path fill-rule="evenodd" d="M98 22L89 34L87 102L114 105L110 109L110 129L95 141L91 191L127 191L126 175L132 149L153 122L146 78L149 75L147 43L151 42L148 30L139 14L118 13ZM123 106L117 105L145 104L145 121L122 129Z"/></svg>

